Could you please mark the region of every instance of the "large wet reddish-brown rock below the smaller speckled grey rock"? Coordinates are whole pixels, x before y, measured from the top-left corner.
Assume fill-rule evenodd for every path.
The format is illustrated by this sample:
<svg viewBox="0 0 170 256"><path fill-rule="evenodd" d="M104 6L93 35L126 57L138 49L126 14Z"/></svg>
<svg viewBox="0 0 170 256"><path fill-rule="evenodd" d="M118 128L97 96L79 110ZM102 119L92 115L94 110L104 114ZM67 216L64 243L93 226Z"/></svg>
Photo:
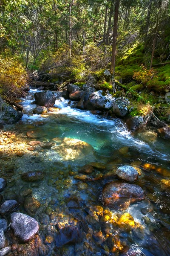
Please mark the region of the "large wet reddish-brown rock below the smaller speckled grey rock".
<svg viewBox="0 0 170 256"><path fill-rule="evenodd" d="M127 209L130 203L142 201L144 198L145 194L140 186L116 182L106 184L100 197L105 205L121 210Z"/></svg>

